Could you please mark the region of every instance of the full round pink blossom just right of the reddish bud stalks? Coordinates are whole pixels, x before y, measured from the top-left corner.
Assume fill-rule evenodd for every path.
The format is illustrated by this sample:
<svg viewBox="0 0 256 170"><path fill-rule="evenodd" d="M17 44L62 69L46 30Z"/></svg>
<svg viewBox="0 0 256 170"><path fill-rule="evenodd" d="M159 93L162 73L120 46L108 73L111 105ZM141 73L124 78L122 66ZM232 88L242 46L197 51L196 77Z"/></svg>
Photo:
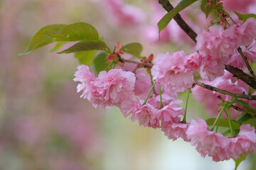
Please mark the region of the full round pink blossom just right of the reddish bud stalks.
<svg viewBox="0 0 256 170"><path fill-rule="evenodd" d="M151 72L166 92L185 91L194 83L193 71L186 68L186 57L186 52L183 51L156 55Z"/></svg>

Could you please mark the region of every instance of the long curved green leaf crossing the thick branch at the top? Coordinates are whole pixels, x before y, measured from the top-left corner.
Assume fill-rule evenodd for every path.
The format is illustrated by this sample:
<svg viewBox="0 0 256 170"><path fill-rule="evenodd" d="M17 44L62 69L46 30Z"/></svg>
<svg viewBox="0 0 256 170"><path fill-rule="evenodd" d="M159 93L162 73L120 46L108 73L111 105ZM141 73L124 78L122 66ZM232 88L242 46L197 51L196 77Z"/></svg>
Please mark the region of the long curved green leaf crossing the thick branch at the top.
<svg viewBox="0 0 256 170"><path fill-rule="evenodd" d="M176 16L177 13L179 13L180 11L182 11L184 8L190 6L191 4L193 4L194 2L196 2L198 0L187 0L187 1L182 1L181 4L179 4L178 6L176 6L175 8L173 8L171 11L169 11L168 13L166 13L166 15L161 18L161 20L159 21L159 23L157 23L157 26L159 28L159 33L161 32L161 30L163 30L164 28L166 28L166 26L168 25L168 23L171 21L172 18L174 18L174 16Z"/></svg>

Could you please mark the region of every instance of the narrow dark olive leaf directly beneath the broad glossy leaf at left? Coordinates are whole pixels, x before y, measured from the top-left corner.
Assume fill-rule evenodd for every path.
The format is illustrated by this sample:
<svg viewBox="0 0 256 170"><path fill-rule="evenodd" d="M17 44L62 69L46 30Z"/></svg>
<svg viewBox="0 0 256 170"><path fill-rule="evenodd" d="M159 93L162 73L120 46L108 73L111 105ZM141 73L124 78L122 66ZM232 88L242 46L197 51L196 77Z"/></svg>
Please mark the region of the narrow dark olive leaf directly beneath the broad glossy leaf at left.
<svg viewBox="0 0 256 170"><path fill-rule="evenodd" d="M107 45L105 42L102 41L81 41L73 45L72 47L69 47L66 50L63 50L62 52L58 52L58 54L61 53L71 53L71 52L82 52L82 51L90 51L90 50L105 50L107 51Z"/></svg>

